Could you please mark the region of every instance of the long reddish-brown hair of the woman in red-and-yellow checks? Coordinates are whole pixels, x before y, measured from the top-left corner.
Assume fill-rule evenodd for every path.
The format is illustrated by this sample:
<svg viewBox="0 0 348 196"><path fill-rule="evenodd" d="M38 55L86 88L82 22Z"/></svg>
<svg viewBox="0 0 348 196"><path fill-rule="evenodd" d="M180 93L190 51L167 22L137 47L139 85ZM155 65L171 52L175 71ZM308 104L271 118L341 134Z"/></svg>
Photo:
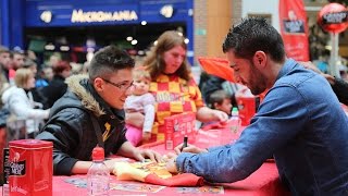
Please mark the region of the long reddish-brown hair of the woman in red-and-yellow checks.
<svg viewBox="0 0 348 196"><path fill-rule="evenodd" d="M151 48L149 56L144 61L144 65L149 71L152 79L156 79L160 74L163 73L165 69L163 53L176 46L182 46L185 50L187 50L185 37L179 32L167 30L158 38L157 45ZM190 68L186 57L181 68L177 69L174 74L186 81L190 79Z"/></svg>

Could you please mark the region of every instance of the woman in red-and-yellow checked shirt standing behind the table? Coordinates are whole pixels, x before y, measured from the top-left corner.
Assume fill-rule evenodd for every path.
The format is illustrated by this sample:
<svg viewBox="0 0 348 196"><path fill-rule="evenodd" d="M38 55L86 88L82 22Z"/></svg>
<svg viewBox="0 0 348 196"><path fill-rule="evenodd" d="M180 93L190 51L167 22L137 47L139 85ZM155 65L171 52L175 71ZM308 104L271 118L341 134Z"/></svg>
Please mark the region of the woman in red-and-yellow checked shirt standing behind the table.
<svg viewBox="0 0 348 196"><path fill-rule="evenodd" d="M164 140L164 119L183 112L195 112L198 121L227 121L225 112L204 106L187 62L187 46L181 33L164 32L144 65L151 75L150 93L156 99L156 118L151 142ZM128 124L141 127L141 113L126 115Z"/></svg>

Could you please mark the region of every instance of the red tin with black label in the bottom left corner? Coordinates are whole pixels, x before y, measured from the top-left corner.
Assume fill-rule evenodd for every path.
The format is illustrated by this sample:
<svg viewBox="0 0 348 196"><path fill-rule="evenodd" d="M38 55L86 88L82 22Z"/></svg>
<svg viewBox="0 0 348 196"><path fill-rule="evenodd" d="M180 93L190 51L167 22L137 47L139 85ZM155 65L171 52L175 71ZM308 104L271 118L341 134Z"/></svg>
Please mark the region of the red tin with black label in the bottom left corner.
<svg viewBox="0 0 348 196"><path fill-rule="evenodd" d="M10 195L52 195L51 142L21 139L9 143Z"/></svg>

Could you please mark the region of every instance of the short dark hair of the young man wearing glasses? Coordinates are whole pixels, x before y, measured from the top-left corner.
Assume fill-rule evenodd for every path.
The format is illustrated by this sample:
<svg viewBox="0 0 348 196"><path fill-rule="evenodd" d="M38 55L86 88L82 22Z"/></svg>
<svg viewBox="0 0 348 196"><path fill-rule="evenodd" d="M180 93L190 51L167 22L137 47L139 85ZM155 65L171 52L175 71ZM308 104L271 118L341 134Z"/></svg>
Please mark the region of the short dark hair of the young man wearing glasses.
<svg viewBox="0 0 348 196"><path fill-rule="evenodd" d="M108 46L96 52L91 59L88 70L89 79L94 81L99 76L109 78L112 73L123 69L133 69L134 65L134 59L126 51L115 46Z"/></svg>

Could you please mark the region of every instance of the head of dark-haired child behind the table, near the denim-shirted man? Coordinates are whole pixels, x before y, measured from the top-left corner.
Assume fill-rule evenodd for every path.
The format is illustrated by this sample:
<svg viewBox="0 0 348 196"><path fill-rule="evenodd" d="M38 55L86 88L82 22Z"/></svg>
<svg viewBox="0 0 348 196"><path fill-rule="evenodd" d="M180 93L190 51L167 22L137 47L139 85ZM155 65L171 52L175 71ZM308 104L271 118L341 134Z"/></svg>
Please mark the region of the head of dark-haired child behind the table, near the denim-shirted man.
<svg viewBox="0 0 348 196"><path fill-rule="evenodd" d="M225 90L216 90L210 95L208 106L211 109L221 110L231 117L231 96Z"/></svg>

